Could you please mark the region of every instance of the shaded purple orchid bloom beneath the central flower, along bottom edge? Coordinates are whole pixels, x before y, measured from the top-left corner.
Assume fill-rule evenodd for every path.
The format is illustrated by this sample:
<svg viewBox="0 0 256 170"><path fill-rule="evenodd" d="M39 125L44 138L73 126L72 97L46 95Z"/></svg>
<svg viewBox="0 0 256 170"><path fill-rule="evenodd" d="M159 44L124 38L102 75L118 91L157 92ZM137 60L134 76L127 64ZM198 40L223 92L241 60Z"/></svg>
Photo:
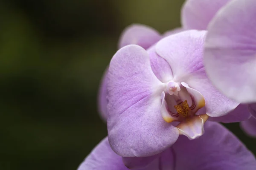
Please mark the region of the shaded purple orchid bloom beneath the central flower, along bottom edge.
<svg viewBox="0 0 256 170"><path fill-rule="evenodd" d="M102 140L78 170L255 170L256 160L239 139L215 122L207 122L204 136L180 137L172 147L156 156L124 159ZM128 168L129 167L129 168Z"/></svg>

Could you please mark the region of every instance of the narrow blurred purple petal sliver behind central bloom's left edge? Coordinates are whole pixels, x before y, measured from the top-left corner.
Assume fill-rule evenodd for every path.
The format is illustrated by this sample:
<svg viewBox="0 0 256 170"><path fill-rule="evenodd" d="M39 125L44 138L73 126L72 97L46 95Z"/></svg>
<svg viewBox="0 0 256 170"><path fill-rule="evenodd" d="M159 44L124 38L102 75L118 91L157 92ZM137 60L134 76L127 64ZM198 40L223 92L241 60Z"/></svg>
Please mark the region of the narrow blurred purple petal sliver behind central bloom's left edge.
<svg viewBox="0 0 256 170"><path fill-rule="evenodd" d="M108 68L106 69L105 73L103 74L102 80L100 82L99 87L99 96L98 96L98 110L99 114L104 121L108 119L107 113L107 73Z"/></svg>

